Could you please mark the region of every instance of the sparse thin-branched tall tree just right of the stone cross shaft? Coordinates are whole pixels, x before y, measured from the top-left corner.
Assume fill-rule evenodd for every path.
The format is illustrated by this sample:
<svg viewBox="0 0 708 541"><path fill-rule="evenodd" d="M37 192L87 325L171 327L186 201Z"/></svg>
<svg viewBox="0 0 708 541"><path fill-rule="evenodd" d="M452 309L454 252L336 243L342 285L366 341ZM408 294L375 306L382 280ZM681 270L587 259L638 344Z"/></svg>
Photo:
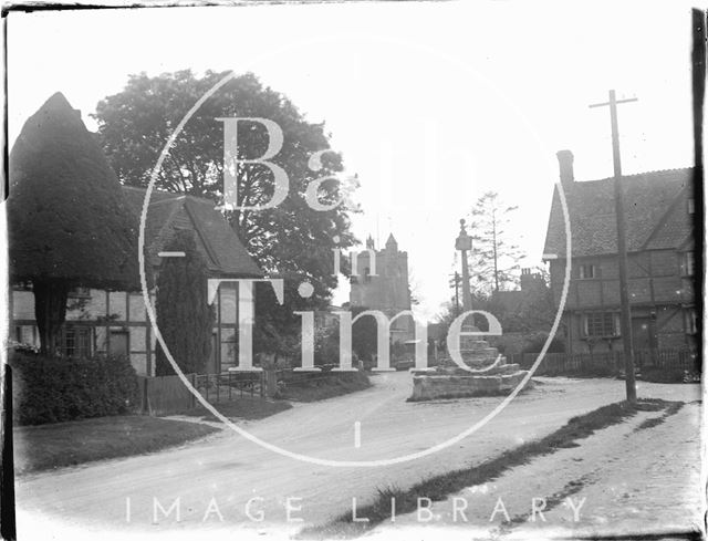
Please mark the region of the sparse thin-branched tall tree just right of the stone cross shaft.
<svg viewBox="0 0 708 541"><path fill-rule="evenodd" d="M517 208L503 205L493 191L486 193L475 204L471 211L470 270L473 290L497 292L514 283L514 272L519 270L523 254L508 239L506 227L510 221L509 215Z"/></svg>

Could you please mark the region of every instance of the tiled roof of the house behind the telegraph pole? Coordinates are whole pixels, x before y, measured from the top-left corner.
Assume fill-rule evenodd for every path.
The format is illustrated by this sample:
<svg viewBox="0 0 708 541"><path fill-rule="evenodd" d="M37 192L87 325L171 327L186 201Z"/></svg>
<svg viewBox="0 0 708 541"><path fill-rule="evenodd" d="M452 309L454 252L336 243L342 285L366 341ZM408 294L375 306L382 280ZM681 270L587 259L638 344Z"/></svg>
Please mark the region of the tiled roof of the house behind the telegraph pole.
<svg viewBox="0 0 708 541"><path fill-rule="evenodd" d="M678 248L693 233L687 199L693 168L667 169L622 178L627 251ZM573 257L617 252L613 179L563 186L571 221ZM544 256L565 257L565 221L558 186L545 236Z"/></svg>

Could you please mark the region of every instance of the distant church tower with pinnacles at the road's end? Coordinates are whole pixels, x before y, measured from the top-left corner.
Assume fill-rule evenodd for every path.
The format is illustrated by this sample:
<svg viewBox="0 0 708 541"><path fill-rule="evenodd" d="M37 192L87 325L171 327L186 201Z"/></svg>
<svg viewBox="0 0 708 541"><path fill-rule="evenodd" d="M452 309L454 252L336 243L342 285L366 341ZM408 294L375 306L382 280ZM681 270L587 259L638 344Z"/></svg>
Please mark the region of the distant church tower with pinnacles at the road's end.
<svg viewBox="0 0 708 541"><path fill-rule="evenodd" d="M408 253L398 250L398 242L388 236L383 250L376 250L374 239L366 239L367 250L357 257L356 273L352 270L350 306L379 310L389 319L410 310ZM372 260L372 254L374 259ZM392 342L414 339L410 316L400 316L391 326Z"/></svg>

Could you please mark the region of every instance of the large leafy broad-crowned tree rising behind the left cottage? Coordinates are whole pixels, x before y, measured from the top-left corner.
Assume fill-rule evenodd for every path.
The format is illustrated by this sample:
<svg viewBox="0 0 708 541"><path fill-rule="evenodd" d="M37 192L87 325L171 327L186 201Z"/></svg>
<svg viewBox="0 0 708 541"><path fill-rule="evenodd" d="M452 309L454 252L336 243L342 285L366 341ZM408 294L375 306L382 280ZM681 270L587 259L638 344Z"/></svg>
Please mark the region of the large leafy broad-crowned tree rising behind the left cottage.
<svg viewBox="0 0 708 541"><path fill-rule="evenodd" d="M225 72L226 73L226 72ZM225 73L207 71L197 77L190 71L148 77L132 75L125 89L98 103L94 117L108 159L123 183L146 186L152 168L175 126L190 107ZM223 204L223 117L262 117L274 121L284 135L282 149L271 162L285 169L290 191L285 200L268 210L226 210L226 215L249 253L267 273L296 275L314 285L308 300L310 308L324 308L336 287L332 275L332 249L346 249L355 243L350 231L350 209L340 206L330 211L310 208L304 194L310 181L342 170L336 153L322 155L322 169L308 165L311 155L330 148L324 124L312 124L284 95L263 87L251 73L226 83L207 100L186 124L175 142L156 188L208 197ZM258 123L240 122L239 157L257 158L268 147L268 133ZM237 171L238 198L241 206L269 201L273 193L271 171L257 164L242 165ZM342 188L337 183L321 185L320 199L333 202ZM336 239L336 240L335 240ZM298 284L295 284L296 288ZM264 291L259 288L259 292ZM293 310L264 303L262 310L284 311L292 321ZM277 318L273 315L273 318Z"/></svg>

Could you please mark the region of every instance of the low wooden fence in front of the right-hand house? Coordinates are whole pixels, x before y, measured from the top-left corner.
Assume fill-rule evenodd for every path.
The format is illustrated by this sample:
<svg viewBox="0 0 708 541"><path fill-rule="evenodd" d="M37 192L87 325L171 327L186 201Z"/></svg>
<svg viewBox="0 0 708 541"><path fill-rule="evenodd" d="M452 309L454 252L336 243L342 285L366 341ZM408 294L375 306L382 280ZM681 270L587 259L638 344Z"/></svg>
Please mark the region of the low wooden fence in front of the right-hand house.
<svg viewBox="0 0 708 541"><path fill-rule="evenodd" d="M538 353L517 353L508 355L509 363L518 363L530 368ZM660 368L680 370L700 373L700 353L691 350L639 350L634 352L634 365L637 371ZM624 372L622 352L603 353L546 353L537 370L539 376L596 375L611 376Z"/></svg>

